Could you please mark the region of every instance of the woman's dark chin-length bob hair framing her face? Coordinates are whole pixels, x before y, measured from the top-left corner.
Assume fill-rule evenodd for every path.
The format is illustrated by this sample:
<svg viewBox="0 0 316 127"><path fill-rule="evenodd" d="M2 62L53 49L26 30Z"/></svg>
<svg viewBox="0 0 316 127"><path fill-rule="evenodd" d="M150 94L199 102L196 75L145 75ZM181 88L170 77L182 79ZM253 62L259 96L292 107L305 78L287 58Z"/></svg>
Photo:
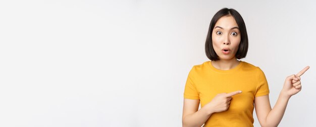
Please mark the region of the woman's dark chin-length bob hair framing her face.
<svg viewBox="0 0 316 127"><path fill-rule="evenodd" d="M242 19L241 15L234 9L228 9L224 8L218 11L209 24L209 29L205 41L205 53L208 59L217 61L219 60L219 56L216 54L213 48L213 41L212 41L212 32L215 27L216 22L223 16L233 16L235 21L237 22L237 25L240 30L240 44L238 47L238 51L235 55L237 59L245 58L248 51L248 35L246 30L246 25L244 20Z"/></svg>

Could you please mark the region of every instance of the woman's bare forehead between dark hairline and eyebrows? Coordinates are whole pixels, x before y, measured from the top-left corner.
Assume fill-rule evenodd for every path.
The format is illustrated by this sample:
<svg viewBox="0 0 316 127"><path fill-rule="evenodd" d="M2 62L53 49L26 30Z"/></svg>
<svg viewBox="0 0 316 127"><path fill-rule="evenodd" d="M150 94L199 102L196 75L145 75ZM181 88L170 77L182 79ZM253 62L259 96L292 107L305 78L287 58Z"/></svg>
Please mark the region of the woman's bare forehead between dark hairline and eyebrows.
<svg viewBox="0 0 316 127"><path fill-rule="evenodd" d="M233 16L223 16L221 17L215 24L216 26L220 26L224 29L230 29L233 27L238 27L238 24Z"/></svg>

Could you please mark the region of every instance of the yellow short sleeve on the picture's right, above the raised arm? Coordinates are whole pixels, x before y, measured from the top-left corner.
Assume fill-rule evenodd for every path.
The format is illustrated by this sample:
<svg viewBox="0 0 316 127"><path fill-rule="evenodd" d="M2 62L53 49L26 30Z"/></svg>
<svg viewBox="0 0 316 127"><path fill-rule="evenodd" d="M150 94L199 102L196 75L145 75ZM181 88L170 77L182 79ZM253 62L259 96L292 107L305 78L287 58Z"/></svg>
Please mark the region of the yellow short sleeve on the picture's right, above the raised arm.
<svg viewBox="0 0 316 127"><path fill-rule="evenodd" d="M257 91L256 91L256 94L254 95L254 97L265 96L265 95L268 95L270 93L266 75L260 68L258 68L258 69L259 69L258 74L257 74L258 75L258 83L256 86Z"/></svg>

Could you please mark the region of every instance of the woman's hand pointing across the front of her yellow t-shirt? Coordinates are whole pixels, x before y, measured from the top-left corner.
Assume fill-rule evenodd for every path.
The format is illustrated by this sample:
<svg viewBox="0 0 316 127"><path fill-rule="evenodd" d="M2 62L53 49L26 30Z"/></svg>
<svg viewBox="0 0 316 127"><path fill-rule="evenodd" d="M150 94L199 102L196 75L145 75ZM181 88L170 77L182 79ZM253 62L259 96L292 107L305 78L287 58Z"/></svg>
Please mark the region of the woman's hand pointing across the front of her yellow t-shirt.
<svg viewBox="0 0 316 127"><path fill-rule="evenodd" d="M230 101L232 100L232 96L240 94L241 91L235 91L232 93L222 93L216 95L212 101L210 101L207 105L212 112L223 112L226 111L229 107Z"/></svg>

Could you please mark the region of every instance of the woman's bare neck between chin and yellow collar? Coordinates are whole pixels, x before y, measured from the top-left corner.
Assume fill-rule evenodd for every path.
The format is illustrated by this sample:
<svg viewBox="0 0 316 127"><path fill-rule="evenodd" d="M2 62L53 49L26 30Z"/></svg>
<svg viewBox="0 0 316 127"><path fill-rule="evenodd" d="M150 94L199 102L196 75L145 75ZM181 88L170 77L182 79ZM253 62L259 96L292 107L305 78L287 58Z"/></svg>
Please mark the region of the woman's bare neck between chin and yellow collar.
<svg viewBox="0 0 316 127"><path fill-rule="evenodd" d="M212 65L220 70L230 70L235 68L240 63L237 59L230 59L230 60L217 60L212 61Z"/></svg>

